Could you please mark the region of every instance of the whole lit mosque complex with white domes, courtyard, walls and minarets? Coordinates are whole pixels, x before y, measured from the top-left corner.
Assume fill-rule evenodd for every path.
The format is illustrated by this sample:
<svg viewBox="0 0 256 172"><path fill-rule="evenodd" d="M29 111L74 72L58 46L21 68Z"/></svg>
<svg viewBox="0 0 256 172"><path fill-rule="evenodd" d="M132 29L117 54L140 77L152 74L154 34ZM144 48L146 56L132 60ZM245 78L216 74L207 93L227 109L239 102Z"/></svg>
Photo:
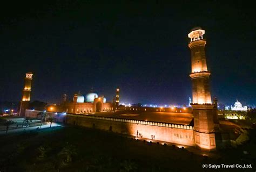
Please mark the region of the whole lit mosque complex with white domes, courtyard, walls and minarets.
<svg viewBox="0 0 256 172"><path fill-rule="evenodd" d="M198 147L203 150L216 150L217 145L230 144L238 140L242 131L237 125L220 121L217 116L217 99L211 98L207 69L205 45L203 38L205 30L193 28L188 33L188 47L191 51L192 102L191 108L176 109L174 107L124 107L119 106L119 88L112 102L107 102L104 96L99 96L93 90L83 96L80 92L68 101L63 95L62 103L47 107L50 116L58 122L97 128L133 137L153 139L169 143ZM26 74L20 116L37 118L39 111L26 110L30 101L32 73ZM241 108L240 102L235 102L234 108ZM60 115L60 116L58 116ZM235 128L235 132L234 132ZM238 132L239 131L239 132ZM241 131L241 132L240 132ZM244 138L244 137L240 137Z"/></svg>

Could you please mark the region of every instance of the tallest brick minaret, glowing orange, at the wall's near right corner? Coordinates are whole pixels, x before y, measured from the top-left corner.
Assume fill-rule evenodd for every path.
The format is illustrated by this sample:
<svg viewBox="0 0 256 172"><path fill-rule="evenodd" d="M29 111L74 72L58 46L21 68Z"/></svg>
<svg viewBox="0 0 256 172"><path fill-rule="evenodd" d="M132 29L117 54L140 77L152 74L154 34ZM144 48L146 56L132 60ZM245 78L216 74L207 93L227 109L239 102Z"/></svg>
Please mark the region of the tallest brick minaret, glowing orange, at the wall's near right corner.
<svg viewBox="0 0 256 172"><path fill-rule="evenodd" d="M203 39L205 31L200 27L193 28L188 34L191 49L192 103L194 115L194 139L201 149L214 150L215 130L213 104L211 100L209 76L207 70L205 44Z"/></svg>

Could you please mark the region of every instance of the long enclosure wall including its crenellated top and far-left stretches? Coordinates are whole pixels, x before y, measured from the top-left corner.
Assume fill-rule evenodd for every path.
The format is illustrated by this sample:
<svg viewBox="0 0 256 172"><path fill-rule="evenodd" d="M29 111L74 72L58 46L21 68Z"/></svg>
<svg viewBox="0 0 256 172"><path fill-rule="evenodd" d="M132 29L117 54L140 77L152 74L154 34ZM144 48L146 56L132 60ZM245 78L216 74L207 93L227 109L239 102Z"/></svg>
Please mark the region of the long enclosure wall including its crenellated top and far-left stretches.
<svg viewBox="0 0 256 172"><path fill-rule="evenodd" d="M37 112L38 113L38 112ZM54 112L47 112L49 116L57 119L57 114ZM27 116L36 117L35 111L26 110ZM89 128L97 128L99 130L110 131L129 134L138 137L139 133L143 138L151 139L151 135L155 136L155 140L173 142L176 144L194 146L194 132L192 126L155 123L150 121L139 121L131 119L119 119L98 116L82 116L76 114L60 114L58 121L70 125L79 125Z"/></svg>

